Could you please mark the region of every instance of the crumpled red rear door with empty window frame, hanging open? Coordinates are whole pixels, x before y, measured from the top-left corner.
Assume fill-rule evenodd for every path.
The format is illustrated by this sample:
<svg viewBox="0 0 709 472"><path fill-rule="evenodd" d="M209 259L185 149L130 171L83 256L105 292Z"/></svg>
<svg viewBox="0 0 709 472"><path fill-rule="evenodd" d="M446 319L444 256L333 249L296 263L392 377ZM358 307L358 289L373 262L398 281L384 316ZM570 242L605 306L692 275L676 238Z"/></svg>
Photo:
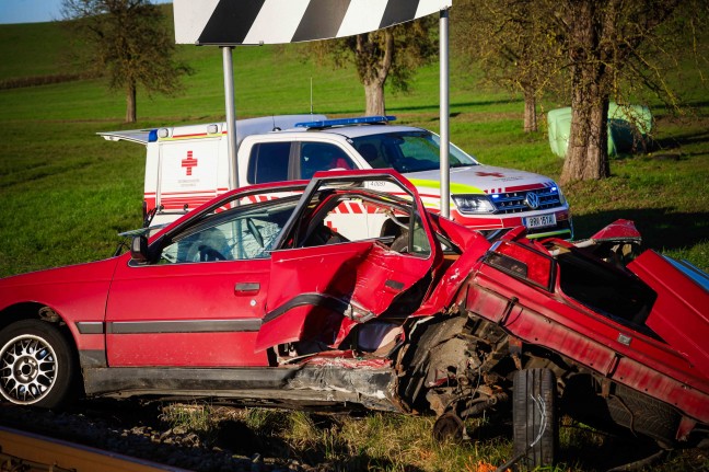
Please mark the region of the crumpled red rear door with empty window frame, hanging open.
<svg viewBox="0 0 709 472"><path fill-rule="evenodd" d="M318 173L303 194L271 253L257 350L339 348L353 326L403 319L423 300L442 255L416 188L395 173L357 179ZM363 185L372 181L395 183L397 192ZM382 237L394 227L397 238Z"/></svg>

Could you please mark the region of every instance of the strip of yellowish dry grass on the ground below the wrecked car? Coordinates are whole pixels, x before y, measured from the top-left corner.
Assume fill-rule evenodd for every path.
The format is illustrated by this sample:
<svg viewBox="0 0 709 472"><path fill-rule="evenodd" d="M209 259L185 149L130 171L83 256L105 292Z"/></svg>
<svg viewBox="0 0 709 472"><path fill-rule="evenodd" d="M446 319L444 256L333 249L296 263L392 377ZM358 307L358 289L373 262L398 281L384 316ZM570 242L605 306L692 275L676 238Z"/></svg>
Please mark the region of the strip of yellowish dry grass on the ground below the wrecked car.
<svg viewBox="0 0 709 472"><path fill-rule="evenodd" d="M466 422L469 441L435 441L432 418L369 413L361 416L298 411L211 406L193 403L163 408L165 427L197 434L207 446L236 453L295 459L318 470L358 472L492 472L508 462L511 427L489 418ZM653 452L649 442L634 441L561 421L559 463L548 472L607 470ZM643 470L707 470L701 452L671 452Z"/></svg>

